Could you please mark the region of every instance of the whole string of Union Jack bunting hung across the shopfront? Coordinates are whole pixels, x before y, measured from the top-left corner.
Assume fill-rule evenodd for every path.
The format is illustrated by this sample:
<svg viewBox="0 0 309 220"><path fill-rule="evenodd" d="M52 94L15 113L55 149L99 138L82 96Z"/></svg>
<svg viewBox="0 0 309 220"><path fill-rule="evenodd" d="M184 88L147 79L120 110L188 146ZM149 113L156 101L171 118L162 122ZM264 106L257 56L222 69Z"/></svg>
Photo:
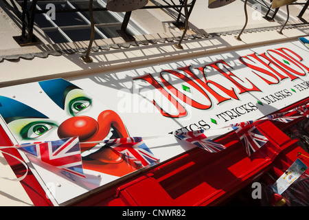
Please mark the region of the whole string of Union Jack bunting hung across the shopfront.
<svg viewBox="0 0 309 220"><path fill-rule="evenodd" d="M308 111L308 104L305 104L300 107L296 107L294 109L291 109L290 111L282 112L282 113L274 113L271 115L266 115L263 118L260 118L258 120L249 120L245 122L238 122L235 124L229 124L227 126L222 126L218 129L226 129L226 128L232 128L233 131L236 131L238 137L240 138L240 141L242 144L244 144L247 154L250 156L253 152L257 151L258 148L263 146L268 140L260 131L253 126L255 122L260 122L262 120L276 120L279 122L290 122L292 120L295 120L300 117L307 117L309 118L309 111ZM299 113L301 115L295 115L295 116L284 116L287 113L292 113L295 111L295 113ZM217 130L217 129L216 129ZM241 132L240 132L241 131ZM168 137L170 135L174 135L175 137L180 138L181 140L185 140L187 142L191 142L192 144L205 149L206 151L209 151L211 153L216 153L219 151L224 150L226 147L222 144L219 144L215 142L214 140L209 139L205 135L204 130L197 130L197 131L187 131L187 132L178 132L173 131L167 135L154 135L154 136L148 136L148 137L124 137L124 138L117 138L113 140L102 140L102 141L95 141L95 142L78 142L78 137L70 137L69 140L57 140L55 142L34 142L34 143L27 143L27 144L16 144L14 146L0 146L1 149L4 148L17 148L27 154L34 155L41 159L43 162L47 162L48 164L51 164L53 166L57 166L58 168L62 168L63 170L66 170L69 173L73 173L75 175L78 175L79 177L84 177L83 171L82 171L82 159L80 155L80 144L107 144L108 146L111 146L116 151L119 151L119 153L122 153L124 155L124 158L126 159L126 162L128 164L134 165L137 168L149 166L150 164L154 162L158 162L159 159L155 157L155 155L152 154L150 149L146 146L143 140L149 140L149 139L155 139L159 137ZM76 141L77 138L77 141ZM61 141L61 144L58 142ZM55 143L57 144L55 145ZM130 147L128 147L130 145ZM253 146L254 145L254 146ZM102 147L102 146L100 146ZM54 157L58 157L58 155L62 155L63 157L59 157L60 160L62 159L61 164L63 164L63 159L68 159L67 164L58 166L57 164L54 164L54 162L48 161L45 157L41 157L42 152L40 152L40 149L45 148L46 151L53 152ZM56 151L55 151L56 148ZM48 150L49 149L49 150ZM73 149L73 150L72 150ZM72 153L73 152L73 153ZM28 173L28 166L27 164L18 157L15 157L14 155L10 153L6 153L4 151L1 151L1 153L5 153L6 155L9 155L10 157L14 157L17 159L23 166L25 166L25 174L22 177L19 178L8 178L8 177L0 177L2 179L9 179L12 181L21 181L23 180ZM50 155L49 155L50 156ZM73 160L71 160L74 158Z"/></svg>

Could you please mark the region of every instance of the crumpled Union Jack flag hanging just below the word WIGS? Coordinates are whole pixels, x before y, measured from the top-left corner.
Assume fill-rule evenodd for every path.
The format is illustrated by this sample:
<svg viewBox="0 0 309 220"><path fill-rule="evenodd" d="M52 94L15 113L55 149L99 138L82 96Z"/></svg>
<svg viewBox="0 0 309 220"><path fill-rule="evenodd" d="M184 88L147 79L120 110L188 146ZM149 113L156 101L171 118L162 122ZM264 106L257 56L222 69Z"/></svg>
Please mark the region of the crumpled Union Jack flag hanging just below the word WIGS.
<svg viewBox="0 0 309 220"><path fill-rule="evenodd" d="M210 153L216 153L226 148L224 145L219 144L218 142L214 142L213 140L206 137L204 130L188 131L177 133L175 135L181 140L190 142L206 151L209 151Z"/></svg>

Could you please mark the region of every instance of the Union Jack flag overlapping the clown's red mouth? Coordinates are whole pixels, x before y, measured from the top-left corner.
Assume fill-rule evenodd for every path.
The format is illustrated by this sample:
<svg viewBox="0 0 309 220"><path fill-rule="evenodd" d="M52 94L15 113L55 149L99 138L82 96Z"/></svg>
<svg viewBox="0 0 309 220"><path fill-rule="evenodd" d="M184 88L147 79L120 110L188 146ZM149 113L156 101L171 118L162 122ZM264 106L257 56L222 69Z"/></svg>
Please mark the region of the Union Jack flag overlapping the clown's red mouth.
<svg viewBox="0 0 309 220"><path fill-rule="evenodd" d="M122 137L104 140L104 143L111 146L115 151L122 153L127 163L132 166L136 165L137 168L148 166L159 160L153 155L141 137Z"/></svg>

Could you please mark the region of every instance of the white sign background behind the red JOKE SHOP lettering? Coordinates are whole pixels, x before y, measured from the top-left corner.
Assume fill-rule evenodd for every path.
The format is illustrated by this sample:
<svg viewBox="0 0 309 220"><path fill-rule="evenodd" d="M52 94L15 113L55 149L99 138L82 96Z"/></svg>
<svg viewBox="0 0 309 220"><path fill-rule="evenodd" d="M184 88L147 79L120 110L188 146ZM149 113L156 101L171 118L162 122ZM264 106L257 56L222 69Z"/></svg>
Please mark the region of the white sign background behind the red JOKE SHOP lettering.
<svg viewBox="0 0 309 220"><path fill-rule="evenodd" d="M299 67L293 66L293 64L290 63L290 65L292 65L294 69L299 70L299 72L302 71L303 73L306 73L306 75L299 76L299 78L293 81L290 80L290 78L286 78L284 80L279 80L279 83L277 84L268 85L268 83L266 83L260 77L253 74L252 72L253 69L246 67L245 65L240 63L240 61L238 61L238 57L240 56L253 54L253 52L257 54L262 54L267 50L273 50L281 47L287 47L288 49L295 51L297 54L299 54L299 56L301 56L301 58L304 59L303 61L301 61L301 63L303 63L308 67L309 51L299 41L294 41L291 43L282 43L277 45L252 48L249 50L241 50L237 52L227 52L225 54L216 54L213 56L198 57L187 61L165 63L152 67L144 67L139 69L128 70L126 72L117 72L112 74L101 74L101 75L98 74L87 78L71 79L71 82L78 85L79 87L82 87L83 89L86 89L87 91L89 91L90 94L93 94L93 96L100 99L103 103L106 104L108 103L108 107L119 113L122 120L124 121L124 124L126 124L128 132L130 133L131 136L149 137L156 135L167 135L171 131L181 129L185 126L187 126L187 128L190 129L190 125L191 129L198 129L198 126L201 127L201 125L204 125L206 123L211 127L211 129L206 131L207 136L216 137L218 135L222 135L223 133L225 133L224 130L222 131L222 129L220 129L223 126L227 126L229 124L233 124L236 122L242 122L246 120L256 120L258 118L262 118L264 115L273 113L278 109L282 109L290 104L293 104L299 100L308 97L309 89L299 91L297 87L298 88L300 87L299 86L295 87L295 85L308 81L309 79L308 70L305 69L301 70L299 69ZM134 81L132 80L132 78L135 78L137 76L152 74L156 78L156 80L159 83L161 83L161 80L159 79L159 73L164 69L176 70L179 67L185 67L187 65L192 65L192 67L203 67L208 63L214 63L215 61L221 59L225 61L229 66L233 67L233 69L229 68L229 70L231 70L233 74L238 76L238 78L240 78L241 80L244 80L244 83L242 83L242 85L244 85L245 87L248 87L250 85L250 83L245 79L247 78L251 81L251 83L256 85L262 92L251 91L244 94L238 94L239 100L231 98L231 100L227 100L220 104L216 104L214 98L209 96L212 98L212 100L214 100L214 103L210 109L201 110L191 107L190 105L187 105L185 107L187 109L187 115L185 117L168 118L161 115L161 113L159 113L159 111L152 104L152 98L157 98L157 100L166 101L166 99L161 94L159 94L159 91L157 91L154 87L152 87L149 83L146 83L145 81L143 82L142 80L134 80ZM258 63L255 63L255 65L258 65ZM262 65L259 66L263 67ZM271 66L274 69L277 69L274 65ZM263 68L266 69L266 67ZM278 70L278 72L280 71ZM201 72L196 73L200 74L199 76L201 76ZM257 73L260 74L259 72ZM170 75L171 74L169 74L169 76ZM282 73L282 75L284 74ZM263 76L268 80L272 80L265 74L264 75L261 74L261 76ZM231 82L229 82L229 80L227 80L223 76L220 76L218 72L211 71L207 73L207 78L209 80L214 80L215 82L218 82L221 85L226 85L226 88L229 87L235 88L235 85L232 85ZM181 90L182 85L186 85L187 87L190 87L190 89L192 89L192 98L198 100L201 103L205 102L205 98L201 96L201 93L194 90L192 86L188 85L182 80L179 80L179 78L177 79L176 77L174 77L174 80L178 80L179 83L175 85L175 87L179 88L179 90ZM143 87L143 85L146 85L146 87ZM162 83L161 85L163 86ZM147 89L151 89L151 91ZM277 100L271 104L267 104L266 100L262 99L265 98L265 96L275 94L276 92L282 91L284 89L288 91L289 96L286 96L281 100ZM291 89L294 89L295 92L293 92ZM286 91L283 91L284 95L286 95ZM140 92L140 94L138 94L138 92ZM185 92L183 91L183 93ZM148 96L146 96L145 94L146 95L148 94ZM146 99L143 98L141 95L150 98L148 99L148 102L146 102L145 101ZM263 105L258 104L258 100L260 100ZM240 115L239 117L233 119L229 118L229 116L226 114L218 116L218 114L220 113L230 111L231 109L240 107L243 104L247 104L247 107L249 109L252 109L251 107L248 106L249 102L251 102L256 106L256 110L250 111L249 113L244 113L243 115ZM125 104L128 106L128 108L124 108L124 106L126 106ZM145 105L147 106L146 108L144 108ZM167 105L166 109L172 109L172 104ZM225 119L222 117L224 117ZM217 124L212 123L211 118L216 120ZM201 122L201 120L203 120L203 122ZM207 127L208 126L205 126L205 128ZM186 131L186 129L181 129L181 131ZM166 145L172 145L172 144L170 142L165 142L165 140L163 139L162 142L160 142L159 139L145 140L145 141L153 142L155 144L156 147L154 147L152 151L155 153L155 155L159 156L161 161L168 159L174 155L177 155L178 153L182 153L184 151L182 146L181 147L170 146L169 149L169 147ZM161 145L163 145L164 147L159 147ZM150 144L149 147L152 148L152 144Z"/></svg>

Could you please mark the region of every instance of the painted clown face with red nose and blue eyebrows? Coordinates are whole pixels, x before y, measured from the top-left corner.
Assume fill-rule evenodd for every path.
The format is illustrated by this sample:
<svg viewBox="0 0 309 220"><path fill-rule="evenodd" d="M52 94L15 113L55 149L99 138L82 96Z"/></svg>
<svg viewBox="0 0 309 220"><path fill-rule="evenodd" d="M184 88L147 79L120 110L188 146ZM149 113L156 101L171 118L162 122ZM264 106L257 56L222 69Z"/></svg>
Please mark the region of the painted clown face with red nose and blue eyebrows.
<svg viewBox="0 0 309 220"><path fill-rule="evenodd" d="M106 109L86 91L62 78L41 81L38 85L35 83L34 87L41 89L39 96L43 96L38 100L37 94L32 98L30 90L35 89L30 89L30 84L23 85L25 89L15 90L20 94L16 98L0 96L0 114L19 143L78 136L84 169L118 177L136 170L111 147L82 143L128 137L115 111ZM21 101L23 99L28 101ZM46 108L49 109L47 113Z"/></svg>

